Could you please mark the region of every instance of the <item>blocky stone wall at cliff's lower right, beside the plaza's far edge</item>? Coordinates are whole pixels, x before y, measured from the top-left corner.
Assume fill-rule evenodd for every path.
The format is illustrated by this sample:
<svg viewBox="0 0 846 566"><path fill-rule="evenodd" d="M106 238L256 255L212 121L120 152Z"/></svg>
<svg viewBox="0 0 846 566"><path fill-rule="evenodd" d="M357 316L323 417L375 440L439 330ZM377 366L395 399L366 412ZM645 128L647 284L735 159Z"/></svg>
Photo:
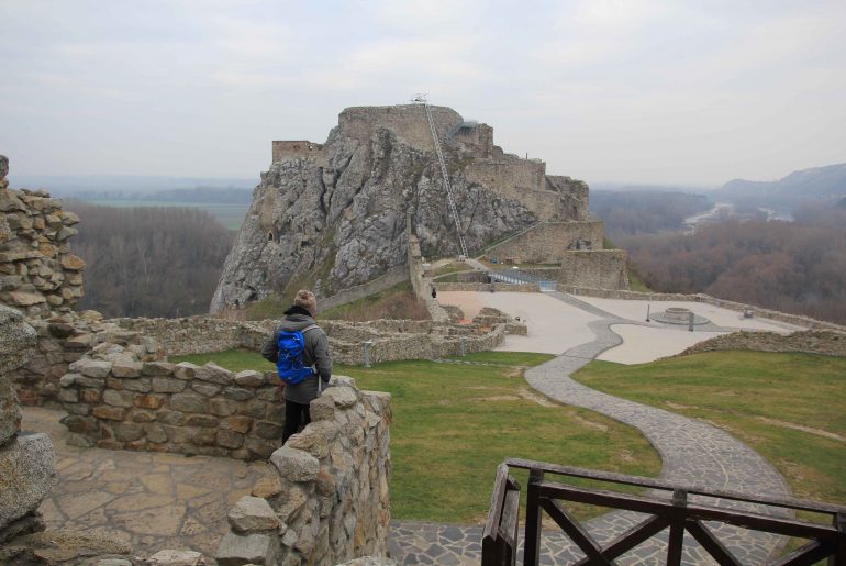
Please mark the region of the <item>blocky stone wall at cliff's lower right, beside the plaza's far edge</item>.
<svg viewBox="0 0 846 566"><path fill-rule="evenodd" d="M627 289L626 253L622 249L564 252L557 269L522 269L541 279L563 286L585 286L600 289Z"/></svg>

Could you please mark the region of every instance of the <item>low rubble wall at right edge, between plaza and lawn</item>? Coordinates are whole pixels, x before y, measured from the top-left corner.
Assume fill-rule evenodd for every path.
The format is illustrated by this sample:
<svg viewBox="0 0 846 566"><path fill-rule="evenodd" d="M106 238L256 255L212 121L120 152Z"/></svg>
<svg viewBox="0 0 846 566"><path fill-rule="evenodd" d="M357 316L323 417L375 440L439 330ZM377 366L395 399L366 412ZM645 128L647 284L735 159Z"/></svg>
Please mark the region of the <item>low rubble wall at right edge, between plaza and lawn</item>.
<svg viewBox="0 0 846 566"><path fill-rule="evenodd" d="M846 357L846 333L831 330L808 330L784 335L776 332L741 331L700 342L678 354L678 356L720 349L805 352L809 354Z"/></svg>

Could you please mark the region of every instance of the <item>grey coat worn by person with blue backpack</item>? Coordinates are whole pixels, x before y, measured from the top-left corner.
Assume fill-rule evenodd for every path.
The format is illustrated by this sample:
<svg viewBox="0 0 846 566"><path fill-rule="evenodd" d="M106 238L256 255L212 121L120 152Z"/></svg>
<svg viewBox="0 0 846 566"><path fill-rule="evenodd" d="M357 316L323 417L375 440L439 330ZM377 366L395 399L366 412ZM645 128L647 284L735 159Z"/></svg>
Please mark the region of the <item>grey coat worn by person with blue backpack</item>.
<svg viewBox="0 0 846 566"><path fill-rule="evenodd" d="M274 331L270 340L265 342L261 348L261 356L276 364L279 357L279 332L296 332L305 326L314 324L314 319L305 314L287 314L279 326ZM287 384L285 386L285 399L300 404L309 404L312 399L318 397L318 376L323 380L325 389L332 377L332 356L329 353L329 339L323 329L312 329L303 334L305 346L302 352L302 362L307 366L314 366L318 375L307 377L297 385Z"/></svg>

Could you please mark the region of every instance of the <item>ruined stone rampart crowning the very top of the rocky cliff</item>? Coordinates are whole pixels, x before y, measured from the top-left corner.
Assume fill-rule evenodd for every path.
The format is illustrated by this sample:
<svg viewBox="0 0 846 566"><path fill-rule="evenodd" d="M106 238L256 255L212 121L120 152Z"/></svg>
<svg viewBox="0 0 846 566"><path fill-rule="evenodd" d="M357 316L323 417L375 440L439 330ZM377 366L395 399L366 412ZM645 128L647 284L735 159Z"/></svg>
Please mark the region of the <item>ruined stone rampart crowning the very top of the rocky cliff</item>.
<svg viewBox="0 0 846 566"><path fill-rule="evenodd" d="M452 108L430 107L430 110L442 140L453 126L464 121ZM359 142L369 142L378 129L386 127L416 149L435 151L423 104L347 108L338 115L338 127L344 135Z"/></svg>

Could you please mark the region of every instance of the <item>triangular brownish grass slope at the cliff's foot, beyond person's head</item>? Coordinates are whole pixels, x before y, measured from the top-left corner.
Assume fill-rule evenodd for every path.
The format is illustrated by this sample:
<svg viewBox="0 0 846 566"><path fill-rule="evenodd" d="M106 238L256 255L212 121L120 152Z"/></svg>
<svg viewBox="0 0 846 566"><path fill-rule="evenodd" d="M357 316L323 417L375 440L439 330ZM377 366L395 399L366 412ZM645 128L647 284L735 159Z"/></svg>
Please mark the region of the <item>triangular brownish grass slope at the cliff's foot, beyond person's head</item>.
<svg viewBox="0 0 846 566"><path fill-rule="evenodd" d="M353 302L327 309L321 319L367 321L378 319L428 320L426 306L419 301L410 281L368 295Z"/></svg>

